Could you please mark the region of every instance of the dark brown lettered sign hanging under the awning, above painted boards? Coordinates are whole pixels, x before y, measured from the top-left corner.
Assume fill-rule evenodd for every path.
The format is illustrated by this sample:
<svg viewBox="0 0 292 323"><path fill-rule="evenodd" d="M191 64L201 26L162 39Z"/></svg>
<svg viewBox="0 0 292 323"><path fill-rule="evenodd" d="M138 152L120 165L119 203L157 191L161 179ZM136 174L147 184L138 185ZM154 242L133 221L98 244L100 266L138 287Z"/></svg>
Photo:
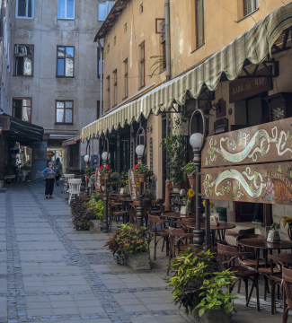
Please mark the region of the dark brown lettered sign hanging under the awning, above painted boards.
<svg viewBox="0 0 292 323"><path fill-rule="evenodd" d="M257 74L268 75L268 71L265 68L262 68L261 70L258 70ZM250 98L253 95L270 91L272 88L271 77L239 78L229 83L229 103Z"/></svg>

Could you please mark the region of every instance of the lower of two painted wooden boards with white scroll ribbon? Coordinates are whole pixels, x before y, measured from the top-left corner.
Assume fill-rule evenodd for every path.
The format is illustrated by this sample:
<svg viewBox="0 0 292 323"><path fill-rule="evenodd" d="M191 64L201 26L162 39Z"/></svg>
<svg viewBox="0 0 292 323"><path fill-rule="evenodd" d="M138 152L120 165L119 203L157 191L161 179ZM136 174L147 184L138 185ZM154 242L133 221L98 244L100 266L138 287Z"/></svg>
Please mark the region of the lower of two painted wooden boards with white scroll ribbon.
<svg viewBox="0 0 292 323"><path fill-rule="evenodd" d="M210 199L292 205L292 162L202 169L201 192Z"/></svg>

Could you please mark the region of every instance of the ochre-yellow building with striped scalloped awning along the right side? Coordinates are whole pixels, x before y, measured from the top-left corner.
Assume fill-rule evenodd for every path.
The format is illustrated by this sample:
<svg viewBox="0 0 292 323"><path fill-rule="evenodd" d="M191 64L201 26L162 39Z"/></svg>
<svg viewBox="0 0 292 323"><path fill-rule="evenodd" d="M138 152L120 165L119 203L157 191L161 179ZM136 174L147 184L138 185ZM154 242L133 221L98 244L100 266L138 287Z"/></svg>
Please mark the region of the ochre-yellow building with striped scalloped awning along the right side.
<svg viewBox="0 0 292 323"><path fill-rule="evenodd" d="M154 170L155 195L161 197L166 179L161 142L167 134L166 120L179 115L173 112L181 109L186 118L184 162L193 157L190 131L200 130L199 123L198 126L194 123L190 130L190 116L197 108L208 115L208 135L290 117L291 3L269 0L236 0L232 4L227 0L170 2L172 80L165 82L162 66L160 74L156 71L153 78L146 80L145 85L150 88L141 92L144 84L141 78L146 75L141 67L146 66L146 71L151 73L150 57L164 57L164 34L158 33L164 32L164 1L150 3L118 1L111 13L117 10L119 14L110 13L102 24L96 39L104 39L103 116L84 127L82 139L108 135L115 152L111 155L112 167L119 169L123 154L128 155L127 167L130 168L133 167L131 161L136 160L135 144L139 142L135 131L139 126L146 127L145 162ZM139 19L146 13L147 5L152 10ZM137 20L139 26L135 25ZM272 25L278 21L283 27L279 34L278 25ZM147 48L147 39L151 39L150 48ZM137 81L128 83L130 77ZM125 89L129 99L125 98ZM275 109L275 105L283 102L285 108ZM118 143L118 147L114 143ZM129 149L121 146L129 146ZM227 206L228 219L234 221L251 220L254 212L254 205L241 202L215 201L215 206ZM269 214L277 216L278 210L279 205L273 205L264 207L261 212L268 219Z"/></svg>

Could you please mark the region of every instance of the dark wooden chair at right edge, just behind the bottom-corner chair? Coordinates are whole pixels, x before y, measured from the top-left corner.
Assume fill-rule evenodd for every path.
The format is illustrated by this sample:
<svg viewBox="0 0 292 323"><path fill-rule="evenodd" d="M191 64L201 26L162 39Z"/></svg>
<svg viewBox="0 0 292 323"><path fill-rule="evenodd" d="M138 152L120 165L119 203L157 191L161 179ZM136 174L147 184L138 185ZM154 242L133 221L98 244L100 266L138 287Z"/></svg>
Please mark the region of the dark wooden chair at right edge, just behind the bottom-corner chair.
<svg viewBox="0 0 292 323"><path fill-rule="evenodd" d="M269 255L270 259L270 293L271 293L271 314L276 313L276 297L275 285L278 285L278 298L279 287L282 284L282 268L289 268L292 266L292 254L281 252L279 256ZM277 264L278 268L275 270L274 265Z"/></svg>

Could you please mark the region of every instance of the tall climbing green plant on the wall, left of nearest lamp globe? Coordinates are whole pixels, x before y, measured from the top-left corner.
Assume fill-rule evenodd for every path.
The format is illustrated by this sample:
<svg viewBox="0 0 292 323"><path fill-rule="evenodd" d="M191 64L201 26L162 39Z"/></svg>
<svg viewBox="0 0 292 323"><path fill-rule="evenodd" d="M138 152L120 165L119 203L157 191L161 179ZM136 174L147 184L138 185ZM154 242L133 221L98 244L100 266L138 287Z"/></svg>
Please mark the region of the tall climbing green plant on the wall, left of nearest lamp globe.
<svg viewBox="0 0 292 323"><path fill-rule="evenodd" d="M173 181L173 184L182 184L184 182L181 165L185 162L186 148L185 136L182 134L181 126L186 122L185 118L173 120L169 135L166 135L161 145L167 150L167 177Z"/></svg>

